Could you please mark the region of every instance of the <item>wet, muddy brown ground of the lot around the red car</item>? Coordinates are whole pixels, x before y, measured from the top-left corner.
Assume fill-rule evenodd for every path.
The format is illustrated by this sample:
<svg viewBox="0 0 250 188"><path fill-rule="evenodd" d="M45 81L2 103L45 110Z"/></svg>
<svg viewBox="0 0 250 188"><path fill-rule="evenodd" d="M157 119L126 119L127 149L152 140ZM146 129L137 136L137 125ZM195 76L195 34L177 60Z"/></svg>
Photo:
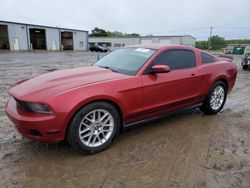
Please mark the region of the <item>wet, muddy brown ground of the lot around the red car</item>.
<svg viewBox="0 0 250 188"><path fill-rule="evenodd" d="M250 187L250 71L241 70L239 56L236 85L217 115L189 109L140 124L91 156L65 142L23 139L4 114L9 86L95 59L89 52L0 52L0 187Z"/></svg>

